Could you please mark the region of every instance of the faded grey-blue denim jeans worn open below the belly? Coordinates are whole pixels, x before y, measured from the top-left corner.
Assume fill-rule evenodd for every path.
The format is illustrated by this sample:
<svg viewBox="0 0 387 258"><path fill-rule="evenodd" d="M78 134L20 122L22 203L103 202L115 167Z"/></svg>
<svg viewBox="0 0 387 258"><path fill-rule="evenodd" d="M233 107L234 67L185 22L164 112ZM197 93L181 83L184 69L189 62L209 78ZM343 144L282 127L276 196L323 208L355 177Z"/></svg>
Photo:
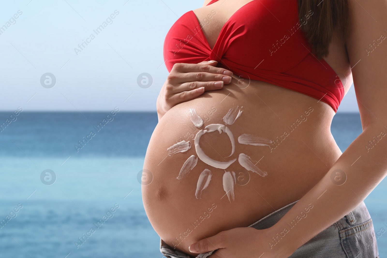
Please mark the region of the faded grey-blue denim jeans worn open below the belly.
<svg viewBox="0 0 387 258"><path fill-rule="evenodd" d="M297 201L296 201L297 202ZM276 224L290 210L293 202L260 219L249 227L266 229ZM168 258L189 258L174 251L162 239L160 251ZM197 258L210 256L202 253ZM371 216L364 202L298 248L289 258L378 258L378 247Z"/></svg>

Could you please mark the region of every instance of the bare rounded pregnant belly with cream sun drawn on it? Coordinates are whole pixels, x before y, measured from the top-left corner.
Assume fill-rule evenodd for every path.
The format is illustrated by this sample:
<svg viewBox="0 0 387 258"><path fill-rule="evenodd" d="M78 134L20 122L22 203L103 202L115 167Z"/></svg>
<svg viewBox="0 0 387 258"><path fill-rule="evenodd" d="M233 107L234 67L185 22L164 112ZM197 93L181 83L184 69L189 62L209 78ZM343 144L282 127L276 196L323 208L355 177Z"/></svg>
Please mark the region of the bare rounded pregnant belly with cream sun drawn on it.
<svg viewBox="0 0 387 258"><path fill-rule="evenodd" d="M333 115L325 103L260 81L175 106L156 126L144 163L142 197L155 231L189 254L199 239L300 199L341 155Z"/></svg>

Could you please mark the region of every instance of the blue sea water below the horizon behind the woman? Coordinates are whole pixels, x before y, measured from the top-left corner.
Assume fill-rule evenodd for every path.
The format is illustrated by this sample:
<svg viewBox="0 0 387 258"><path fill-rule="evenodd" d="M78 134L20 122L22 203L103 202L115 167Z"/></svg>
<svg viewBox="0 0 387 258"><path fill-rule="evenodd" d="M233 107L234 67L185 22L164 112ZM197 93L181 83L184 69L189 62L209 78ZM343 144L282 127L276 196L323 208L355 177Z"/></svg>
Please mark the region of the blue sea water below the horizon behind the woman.
<svg viewBox="0 0 387 258"><path fill-rule="evenodd" d="M118 112L108 120L109 113L21 112L0 132L0 219L12 215L0 228L0 257L163 257L137 177L157 115ZM11 114L0 113L0 123ZM360 133L358 114L336 114L341 151ZM55 183L54 175L42 182L44 170ZM381 257L386 193L384 180L365 200Z"/></svg>

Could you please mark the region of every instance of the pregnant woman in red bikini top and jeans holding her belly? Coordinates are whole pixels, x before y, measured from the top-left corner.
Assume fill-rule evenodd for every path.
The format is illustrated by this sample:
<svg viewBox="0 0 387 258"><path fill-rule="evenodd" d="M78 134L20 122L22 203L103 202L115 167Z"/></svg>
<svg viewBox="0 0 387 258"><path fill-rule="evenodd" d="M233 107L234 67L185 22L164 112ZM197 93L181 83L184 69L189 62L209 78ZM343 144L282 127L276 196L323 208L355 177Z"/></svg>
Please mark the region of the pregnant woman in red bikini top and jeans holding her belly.
<svg viewBox="0 0 387 258"><path fill-rule="evenodd" d="M173 24L142 177L163 255L378 256L386 29L386 0L206 0ZM341 153L352 83L363 132Z"/></svg>

